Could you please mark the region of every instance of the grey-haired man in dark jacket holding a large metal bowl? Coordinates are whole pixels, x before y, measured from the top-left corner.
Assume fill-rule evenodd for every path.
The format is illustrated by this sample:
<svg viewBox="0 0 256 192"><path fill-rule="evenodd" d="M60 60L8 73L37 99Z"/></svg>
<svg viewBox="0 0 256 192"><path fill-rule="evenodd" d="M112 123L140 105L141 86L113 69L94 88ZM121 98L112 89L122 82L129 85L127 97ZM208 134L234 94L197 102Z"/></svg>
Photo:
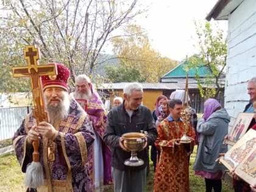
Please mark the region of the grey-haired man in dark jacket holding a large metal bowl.
<svg viewBox="0 0 256 192"><path fill-rule="evenodd" d="M115 192L142 192L146 185L146 146L157 138L157 129L149 108L141 106L143 89L138 83L127 84L123 91L124 102L113 108L107 116L104 133L105 143L112 148L112 171ZM144 161L140 166L126 166L124 161L130 152L123 145L122 135L128 132L148 132L147 143L138 158Z"/></svg>

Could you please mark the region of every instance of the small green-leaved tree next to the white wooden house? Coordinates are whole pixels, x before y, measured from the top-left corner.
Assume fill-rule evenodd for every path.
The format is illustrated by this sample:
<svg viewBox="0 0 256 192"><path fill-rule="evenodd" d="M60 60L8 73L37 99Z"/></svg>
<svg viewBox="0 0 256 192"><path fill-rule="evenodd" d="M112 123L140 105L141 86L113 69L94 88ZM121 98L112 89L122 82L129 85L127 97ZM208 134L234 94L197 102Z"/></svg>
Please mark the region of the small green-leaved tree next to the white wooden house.
<svg viewBox="0 0 256 192"><path fill-rule="evenodd" d="M216 98L221 90L221 77L224 76L226 66L227 40L224 37L223 30L218 27L213 30L209 22L204 25L196 22L194 24L200 53L188 59L188 67L195 68L197 71L196 79L201 96ZM202 67L209 71L204 81L199 77L197 70ZM206 85L205 89L202 88L202 84Z"/></svg>

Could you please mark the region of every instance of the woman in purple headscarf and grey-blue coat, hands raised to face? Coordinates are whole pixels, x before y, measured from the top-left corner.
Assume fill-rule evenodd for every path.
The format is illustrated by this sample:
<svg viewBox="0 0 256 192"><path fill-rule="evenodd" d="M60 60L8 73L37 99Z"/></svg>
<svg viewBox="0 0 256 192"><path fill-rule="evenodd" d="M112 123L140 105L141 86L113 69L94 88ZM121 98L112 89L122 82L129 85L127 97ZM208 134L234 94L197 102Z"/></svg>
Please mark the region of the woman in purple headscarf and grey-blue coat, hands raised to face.
<svg viewBox="0 0 256 192"><path fill-rule="evenodd" d="M200 134L194 171L196 175L205 178L206 192L221 192L221 179L224 175L224 165L215 162L220 153L227 152L223 144L227 135L230 116L216 99L204 102L204 115L197 122L196 130Z"/></svg>

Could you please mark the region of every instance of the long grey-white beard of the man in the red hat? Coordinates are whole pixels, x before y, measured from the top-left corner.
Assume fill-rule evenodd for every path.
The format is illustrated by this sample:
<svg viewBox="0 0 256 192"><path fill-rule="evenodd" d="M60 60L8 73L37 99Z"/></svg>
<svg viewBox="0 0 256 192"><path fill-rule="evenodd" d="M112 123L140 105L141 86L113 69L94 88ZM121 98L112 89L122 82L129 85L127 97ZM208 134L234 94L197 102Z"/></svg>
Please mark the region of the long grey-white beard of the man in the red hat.
<svg viewBox="0 0 256 192"><path fill-rule="evenodd" d="M59 103L55 103L54 105L50 105L47 99L45 99L45 101L48 110L50 124L54 125L54 123L59 123L59 121L62 121L68 116L70 105L68 92L64 91L63 100L61 100Z"/></svg>

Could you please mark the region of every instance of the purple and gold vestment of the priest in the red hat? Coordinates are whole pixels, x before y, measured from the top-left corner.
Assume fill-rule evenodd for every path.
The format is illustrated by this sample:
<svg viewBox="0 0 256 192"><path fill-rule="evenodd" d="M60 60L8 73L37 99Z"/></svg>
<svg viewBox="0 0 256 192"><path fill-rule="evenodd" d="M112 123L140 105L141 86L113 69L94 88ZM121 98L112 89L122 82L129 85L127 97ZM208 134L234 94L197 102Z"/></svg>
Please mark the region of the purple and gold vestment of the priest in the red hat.
<svg viewBox="0 0 256 192"><path fill-rule="evenodd" d="M26 142L26 136L34 124L33 116L27 116L13 137L16 157L23 172L26 172L27 164L32 162L33 147ZM91 185L85 163L91 155L90 148L95 135L88 115L73 100L68 117L54 127L59 130L54 141L48 138L40 139L40 163L44 170L44 183L48 184L43 186L43 190L38 188L38 191L90 191ZM48 156L49 141L54 146L52 161Z"/></svg>

